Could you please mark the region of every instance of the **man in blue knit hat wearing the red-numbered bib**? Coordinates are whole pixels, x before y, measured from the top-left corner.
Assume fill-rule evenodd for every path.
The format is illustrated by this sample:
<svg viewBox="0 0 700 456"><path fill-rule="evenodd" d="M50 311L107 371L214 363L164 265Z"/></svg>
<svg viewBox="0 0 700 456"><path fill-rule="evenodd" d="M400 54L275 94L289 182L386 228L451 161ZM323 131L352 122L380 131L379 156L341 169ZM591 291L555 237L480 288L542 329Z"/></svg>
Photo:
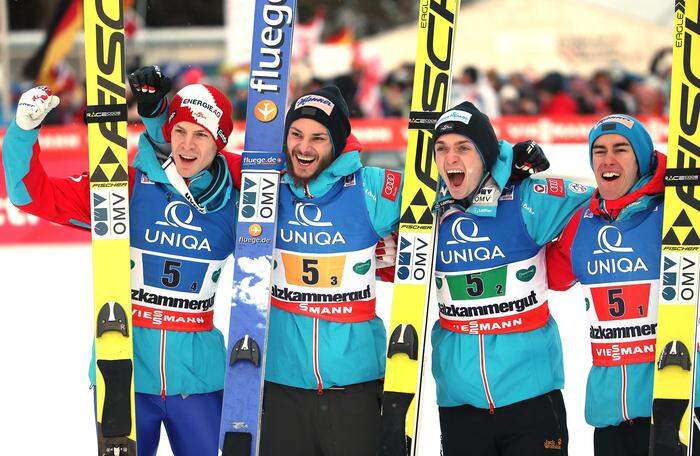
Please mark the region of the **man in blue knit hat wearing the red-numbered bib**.
<svg viewBox="0 0 700 456"><path fill-rule="evenodd" d="M583 289L593 358L585 414L595 455L646 455L666 156L626 115L598 121L588 141L598 189L548 248L549 286Z"/></svg>

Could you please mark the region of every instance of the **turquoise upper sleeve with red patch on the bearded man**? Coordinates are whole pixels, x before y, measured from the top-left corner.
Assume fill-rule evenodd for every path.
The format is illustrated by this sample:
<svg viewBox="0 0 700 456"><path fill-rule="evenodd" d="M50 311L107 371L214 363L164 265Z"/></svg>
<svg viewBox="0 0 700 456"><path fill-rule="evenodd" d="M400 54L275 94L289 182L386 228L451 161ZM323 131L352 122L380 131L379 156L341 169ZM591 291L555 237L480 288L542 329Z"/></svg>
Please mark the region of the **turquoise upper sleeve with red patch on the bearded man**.
<svg viewBox="0 0 700 456"><path fill-rule="evenodd" d="M399 226L403 176L374 167L364 167L361 172L369 219L374 231L384 237Z"/></svg>

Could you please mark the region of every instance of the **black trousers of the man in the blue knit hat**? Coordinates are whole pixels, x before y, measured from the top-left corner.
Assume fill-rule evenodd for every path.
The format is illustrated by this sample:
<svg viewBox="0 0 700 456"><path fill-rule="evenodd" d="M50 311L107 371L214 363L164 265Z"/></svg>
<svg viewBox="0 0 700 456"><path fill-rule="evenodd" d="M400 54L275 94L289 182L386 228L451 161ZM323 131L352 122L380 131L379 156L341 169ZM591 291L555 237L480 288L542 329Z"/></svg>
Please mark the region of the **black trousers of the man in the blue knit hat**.
<svg viewBox="0 0 700 456"><path fill-rule="evenodd" d="M698 416L700 407L695 409ZM635 418L617 426L595 428L593 449L595 456L647 456L649 454L649 427L651 418ZM693 431L694 456L700 456L700 429Z"/></svg>

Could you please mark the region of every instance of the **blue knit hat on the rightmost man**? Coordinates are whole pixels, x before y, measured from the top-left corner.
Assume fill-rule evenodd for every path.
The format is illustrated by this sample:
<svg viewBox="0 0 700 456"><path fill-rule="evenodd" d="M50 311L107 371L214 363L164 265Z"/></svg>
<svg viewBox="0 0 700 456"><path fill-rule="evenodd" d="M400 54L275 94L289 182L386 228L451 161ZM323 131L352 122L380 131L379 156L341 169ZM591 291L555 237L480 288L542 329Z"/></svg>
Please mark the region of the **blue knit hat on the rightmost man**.
<svg viewBox="0 0 700 456"><path fill-rule="evenodd" d="M654 160L654 143L642 123L632 116L612 114L603 117L588 134L588 158L593 166L593 143L603 135L621 135L627 138L637 157L639 175L649 173Z"/></svg>

